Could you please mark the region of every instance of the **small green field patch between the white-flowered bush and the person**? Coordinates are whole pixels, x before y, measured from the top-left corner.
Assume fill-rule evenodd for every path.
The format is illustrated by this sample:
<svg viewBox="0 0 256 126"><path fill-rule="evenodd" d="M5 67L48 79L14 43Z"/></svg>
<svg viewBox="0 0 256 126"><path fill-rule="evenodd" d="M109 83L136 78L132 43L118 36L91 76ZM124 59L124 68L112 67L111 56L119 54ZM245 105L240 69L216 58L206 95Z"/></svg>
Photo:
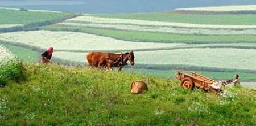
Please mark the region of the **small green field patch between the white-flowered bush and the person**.
<svg viewBox="0 0 256 126"><path fill-rule="evenodd" d="M6 47L11 53L14 55L17 55L22 62L35 62L38 61L40 58L40 53L36 51L32 51L30 49L26 49L24 47L18 47L14 45L9 45L9 44L1 44Z"/></svg>

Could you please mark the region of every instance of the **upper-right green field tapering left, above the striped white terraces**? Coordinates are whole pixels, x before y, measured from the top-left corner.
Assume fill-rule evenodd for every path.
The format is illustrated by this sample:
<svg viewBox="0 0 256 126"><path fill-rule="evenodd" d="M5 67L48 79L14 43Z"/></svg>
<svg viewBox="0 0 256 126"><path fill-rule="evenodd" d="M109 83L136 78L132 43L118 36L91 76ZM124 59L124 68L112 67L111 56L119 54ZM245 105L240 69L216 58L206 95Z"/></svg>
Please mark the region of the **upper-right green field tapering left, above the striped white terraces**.
<svg viewBox="0 0 256 126"><path fill-rule="evenodd" d="M256 15L195 15L195 14L98 14L89 15L100 18L119 18L150 21L167 21L191 24L220 24L220 25L256 25Z"/></svg>

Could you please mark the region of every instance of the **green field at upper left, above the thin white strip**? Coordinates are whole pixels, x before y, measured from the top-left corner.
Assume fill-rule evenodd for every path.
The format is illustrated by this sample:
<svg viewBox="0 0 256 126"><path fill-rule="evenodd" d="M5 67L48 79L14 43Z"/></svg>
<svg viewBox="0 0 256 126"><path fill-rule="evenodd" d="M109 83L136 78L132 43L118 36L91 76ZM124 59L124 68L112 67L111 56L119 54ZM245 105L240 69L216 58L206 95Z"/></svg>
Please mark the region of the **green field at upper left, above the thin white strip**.
<svg viewBox="0 0 256 126"><path fill-rule="evenodd" d="M60 20L72 16L71 13L20 11L0 8L0 24L30 24L51 20Z"/></svg>

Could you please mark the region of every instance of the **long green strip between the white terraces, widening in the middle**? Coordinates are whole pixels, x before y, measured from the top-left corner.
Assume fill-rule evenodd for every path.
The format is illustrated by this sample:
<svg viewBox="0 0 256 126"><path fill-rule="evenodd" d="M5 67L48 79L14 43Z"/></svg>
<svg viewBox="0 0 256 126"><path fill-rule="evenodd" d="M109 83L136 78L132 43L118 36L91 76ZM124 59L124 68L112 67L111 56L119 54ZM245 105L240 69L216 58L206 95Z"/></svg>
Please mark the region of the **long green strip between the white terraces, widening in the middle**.
<svg viewBox="0 0 256 126"><path fill-rule="evenodd" d="M181 34L167 34L167 33L150 33L150 32L135 32L135 31L121 31L111 29L96 29L85 27L68 27L63 25L43 27L49 31L72 31L85 32L96 34L98 36L112 37L118 40L127 41L141 41L141 42L179 42L186 44L217 44L217 43L254 43L256 36L192 36Z"/></svg>

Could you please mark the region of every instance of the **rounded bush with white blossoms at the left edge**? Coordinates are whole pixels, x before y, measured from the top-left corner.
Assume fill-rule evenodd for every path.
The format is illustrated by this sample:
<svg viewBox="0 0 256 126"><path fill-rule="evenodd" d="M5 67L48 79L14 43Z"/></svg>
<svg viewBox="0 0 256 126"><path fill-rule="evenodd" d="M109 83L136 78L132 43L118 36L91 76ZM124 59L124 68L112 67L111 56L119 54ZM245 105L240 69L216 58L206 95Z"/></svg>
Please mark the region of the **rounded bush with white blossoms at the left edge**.
<svg viewBox="0 0 256 126"><path fill-rule="evenodd" d="M0 53L0 86L10 80L20 81L23 77L20 60L3 46L0 46Z"/></svg>

